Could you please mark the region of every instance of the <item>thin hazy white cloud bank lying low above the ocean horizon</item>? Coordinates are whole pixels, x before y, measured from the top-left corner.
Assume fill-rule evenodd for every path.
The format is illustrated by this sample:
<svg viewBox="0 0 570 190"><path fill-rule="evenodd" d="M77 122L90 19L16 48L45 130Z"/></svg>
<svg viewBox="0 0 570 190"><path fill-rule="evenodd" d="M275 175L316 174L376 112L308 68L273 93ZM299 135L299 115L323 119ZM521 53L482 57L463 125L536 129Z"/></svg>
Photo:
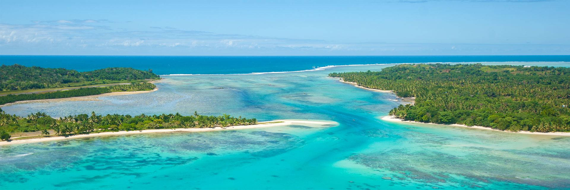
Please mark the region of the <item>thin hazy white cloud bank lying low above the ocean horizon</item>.
<svg viewBox="0 0 570 190"><path fill-rule="evenodd" d="M216 34L170 27L132 31L101 26L104 25L103 22L110 21L93 19L60 21L65 22L38 21L31 25L0 23L0 54L466 55L570 52L570 45L338 43L315 39Z"/></svg>

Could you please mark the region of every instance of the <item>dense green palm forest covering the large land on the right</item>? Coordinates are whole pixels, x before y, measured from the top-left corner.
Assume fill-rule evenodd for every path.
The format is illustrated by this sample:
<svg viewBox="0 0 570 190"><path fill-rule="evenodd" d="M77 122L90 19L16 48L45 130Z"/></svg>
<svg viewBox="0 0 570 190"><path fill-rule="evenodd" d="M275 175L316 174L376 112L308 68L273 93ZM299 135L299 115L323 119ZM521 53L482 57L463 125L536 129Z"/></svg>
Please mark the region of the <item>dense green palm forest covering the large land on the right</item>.
<svg viewBox="0 0 570 190"><path fill-rule="evenodd" d="M402 64L379 72L331 73L360 86L416 97L390 115L508 131L570 132L570 68Z"/></svg>

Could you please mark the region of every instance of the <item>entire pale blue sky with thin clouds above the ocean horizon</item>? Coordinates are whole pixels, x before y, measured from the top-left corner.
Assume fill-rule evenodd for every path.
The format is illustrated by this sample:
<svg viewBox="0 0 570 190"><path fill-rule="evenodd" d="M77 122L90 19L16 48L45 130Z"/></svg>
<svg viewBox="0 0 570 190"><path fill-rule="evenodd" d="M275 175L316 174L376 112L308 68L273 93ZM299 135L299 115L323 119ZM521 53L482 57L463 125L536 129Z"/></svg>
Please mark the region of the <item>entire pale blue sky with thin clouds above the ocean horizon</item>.
<svg viewBox="0 0 570 190"><path fill-rule="evenodd" d="M0 1L1 55L569 55L570 0Z"/></svg>

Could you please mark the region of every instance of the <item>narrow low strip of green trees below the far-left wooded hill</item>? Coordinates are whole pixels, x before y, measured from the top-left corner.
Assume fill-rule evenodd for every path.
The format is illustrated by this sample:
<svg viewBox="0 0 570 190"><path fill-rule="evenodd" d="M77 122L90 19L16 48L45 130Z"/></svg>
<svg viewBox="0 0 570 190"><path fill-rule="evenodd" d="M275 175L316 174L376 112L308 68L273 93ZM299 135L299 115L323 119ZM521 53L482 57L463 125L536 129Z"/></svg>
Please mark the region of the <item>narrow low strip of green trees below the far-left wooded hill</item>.
<svg viewBox="0 0 570 190"><path fill-rule="evenodd" d="M55 98L71 98L78 96L90 96L99 95L109 92L124 92L124 91L149 91L156 88L154 84L143 82L143 83L131 83L131 84L121 84L109 87L98 87L98 88L79 88L75 90L66 91L56 91L48 92L43 94L19 94L19 95L6 95L0 96L0 105L13 103L23 100L43 100L43 99L55 99Z"/></svg>

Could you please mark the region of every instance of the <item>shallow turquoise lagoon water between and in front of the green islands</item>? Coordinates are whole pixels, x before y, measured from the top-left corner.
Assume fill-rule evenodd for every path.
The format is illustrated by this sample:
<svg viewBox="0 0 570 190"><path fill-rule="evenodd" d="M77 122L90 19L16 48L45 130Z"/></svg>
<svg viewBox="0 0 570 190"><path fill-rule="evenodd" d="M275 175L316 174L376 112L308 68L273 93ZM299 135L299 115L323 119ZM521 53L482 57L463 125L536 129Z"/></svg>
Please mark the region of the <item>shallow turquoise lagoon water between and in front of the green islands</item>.
<svg viewBox="0 0 570 190"><path fill-rule="evenodd" d="M504 64L504 63L486 63ZM569 66L568 63L510 63ZM337 127L104 136L0 147L0 189L568 189L570 138L378 119L389 93L329 72L164 76L160 90L95 100L14 104L25 116L241 115L320 119Z"/></svg>

